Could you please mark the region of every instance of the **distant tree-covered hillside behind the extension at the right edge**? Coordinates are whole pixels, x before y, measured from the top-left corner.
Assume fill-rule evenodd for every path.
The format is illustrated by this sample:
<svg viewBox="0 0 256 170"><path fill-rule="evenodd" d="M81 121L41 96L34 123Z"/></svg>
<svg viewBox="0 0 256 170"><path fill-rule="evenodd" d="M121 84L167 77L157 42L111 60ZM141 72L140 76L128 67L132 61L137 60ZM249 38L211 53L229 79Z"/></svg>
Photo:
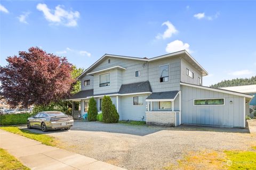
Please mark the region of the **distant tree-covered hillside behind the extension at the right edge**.
<svg viewBox="0 0 256 170"><path fill-rule="evenodd" d="M211 87L220 88L220 87L230 87L230 86L243 86L243 85L251 85L256 84L256 76L245 79L232 79L232 80L223 80L217 84L213 84Z"/></svg>

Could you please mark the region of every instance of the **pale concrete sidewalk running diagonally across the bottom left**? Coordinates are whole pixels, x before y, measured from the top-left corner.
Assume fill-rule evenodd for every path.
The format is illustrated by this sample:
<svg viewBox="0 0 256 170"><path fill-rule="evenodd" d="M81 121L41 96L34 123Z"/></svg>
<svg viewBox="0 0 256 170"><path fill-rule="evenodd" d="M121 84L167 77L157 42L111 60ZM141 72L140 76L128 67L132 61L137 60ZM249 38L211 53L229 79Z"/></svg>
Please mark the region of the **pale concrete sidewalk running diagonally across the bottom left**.
<svg viewBox="0 0 256 170"><path fill-rule="evenodd" d="M30 169L123 169L4 130L0 130L0 148L6 149Z"/></svg>

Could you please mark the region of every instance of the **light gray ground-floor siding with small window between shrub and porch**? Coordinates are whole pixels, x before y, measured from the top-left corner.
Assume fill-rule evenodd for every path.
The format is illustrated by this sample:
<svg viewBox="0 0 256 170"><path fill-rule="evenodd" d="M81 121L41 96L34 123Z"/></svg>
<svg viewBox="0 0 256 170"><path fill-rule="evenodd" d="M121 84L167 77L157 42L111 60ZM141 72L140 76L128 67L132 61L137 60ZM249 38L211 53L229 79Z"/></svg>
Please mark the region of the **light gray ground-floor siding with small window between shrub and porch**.
<svg viewBox="0 0 256 170"><path fill-rule="evenodd" d="M142 96L143 105L134 106L133 97ZM119 116L120 120L133 120L133 121L142 121L142 116L145 117L146 121L146 98L148 95L134 95L134 96L122 96L119 97Z"/></svg>

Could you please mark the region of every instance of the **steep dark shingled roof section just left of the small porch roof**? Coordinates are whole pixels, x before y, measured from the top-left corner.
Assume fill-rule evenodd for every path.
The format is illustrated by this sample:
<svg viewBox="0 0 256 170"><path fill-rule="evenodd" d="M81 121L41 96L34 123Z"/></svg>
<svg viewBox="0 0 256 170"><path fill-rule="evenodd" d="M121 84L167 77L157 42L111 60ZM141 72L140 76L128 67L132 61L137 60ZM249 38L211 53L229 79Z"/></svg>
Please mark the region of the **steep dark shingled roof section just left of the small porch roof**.
<svg viewBox="0 0 256 170"><path fill-rule="evenodd" d="M122 84L119 94L133 94L137 92L152 92L149 81Z"/></svg>

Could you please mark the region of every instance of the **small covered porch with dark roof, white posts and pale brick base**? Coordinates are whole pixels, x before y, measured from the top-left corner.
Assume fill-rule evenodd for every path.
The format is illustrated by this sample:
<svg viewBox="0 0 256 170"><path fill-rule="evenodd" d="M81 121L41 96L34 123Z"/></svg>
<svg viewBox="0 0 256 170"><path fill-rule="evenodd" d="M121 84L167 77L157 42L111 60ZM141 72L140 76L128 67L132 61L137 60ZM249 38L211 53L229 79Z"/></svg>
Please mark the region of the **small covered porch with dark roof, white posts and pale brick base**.
<svg viewBox="0 0 256 170"><path fill-rule="evenodd" d="M153 92L146 99L146 124L178 126L181 124L181 91Z"/></svg>

